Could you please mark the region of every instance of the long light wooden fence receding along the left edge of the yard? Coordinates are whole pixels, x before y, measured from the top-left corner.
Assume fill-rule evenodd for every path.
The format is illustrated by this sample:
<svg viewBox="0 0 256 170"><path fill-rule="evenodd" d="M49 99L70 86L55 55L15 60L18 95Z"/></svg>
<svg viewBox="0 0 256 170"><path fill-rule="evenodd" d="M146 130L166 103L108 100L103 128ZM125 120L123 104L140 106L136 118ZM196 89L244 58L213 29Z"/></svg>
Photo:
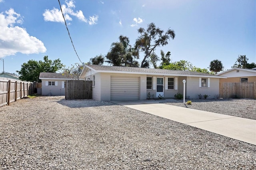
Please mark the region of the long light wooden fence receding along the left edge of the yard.
<svg viewBox="0 0 256 170"><path fill-rule="evenodd" d="M34 93L34 89L31 82L0 79L0 107Z"/></svg>

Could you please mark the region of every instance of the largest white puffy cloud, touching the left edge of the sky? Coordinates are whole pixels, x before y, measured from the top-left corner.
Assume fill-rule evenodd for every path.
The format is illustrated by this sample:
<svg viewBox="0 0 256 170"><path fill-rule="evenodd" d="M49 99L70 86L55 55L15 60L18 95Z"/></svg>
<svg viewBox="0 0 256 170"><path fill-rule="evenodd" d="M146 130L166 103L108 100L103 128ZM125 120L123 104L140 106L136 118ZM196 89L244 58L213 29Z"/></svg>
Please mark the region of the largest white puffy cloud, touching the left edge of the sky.
<svg viewBox="0 0 256 170"><path fill-rule="evenodd" d="M26 29L15 24L22 24L20 14L12 8L0 13L0 57L15 55L16 53L32 54L44 53L44 43L36 37L30 36Z"/></svg>

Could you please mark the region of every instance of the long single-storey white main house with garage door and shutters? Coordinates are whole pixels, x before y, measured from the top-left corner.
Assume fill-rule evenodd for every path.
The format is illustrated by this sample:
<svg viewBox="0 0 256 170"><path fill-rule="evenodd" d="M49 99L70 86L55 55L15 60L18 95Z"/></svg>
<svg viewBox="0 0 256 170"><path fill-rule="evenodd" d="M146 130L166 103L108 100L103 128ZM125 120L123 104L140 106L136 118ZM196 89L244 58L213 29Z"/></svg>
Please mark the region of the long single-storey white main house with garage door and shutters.
<svg viewBox="0 0 256 170"><path fill-rule="evenodd" d="M173 98L177 93L183 94L184 79L186 97L198 99L201 94L214 98L219 95L219 79L226 77L192 71L85 65L80 78L92 80L92 99L110 101L145 100L149 93L151 98Z"/></svg>

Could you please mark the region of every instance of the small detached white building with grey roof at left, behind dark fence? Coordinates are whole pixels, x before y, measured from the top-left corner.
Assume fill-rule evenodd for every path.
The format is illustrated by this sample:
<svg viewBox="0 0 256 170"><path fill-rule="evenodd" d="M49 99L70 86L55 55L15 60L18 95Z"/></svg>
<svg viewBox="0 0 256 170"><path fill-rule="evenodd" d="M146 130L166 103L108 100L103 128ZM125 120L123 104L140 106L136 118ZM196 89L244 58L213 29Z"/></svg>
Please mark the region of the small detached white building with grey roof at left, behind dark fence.
<svg viewBox="0 0 256 170"><path fill-rule="evenodd" d="M71 80L62 73L45 73L39 75L42 80L42 95L65 95L66 80Z"/></svg>

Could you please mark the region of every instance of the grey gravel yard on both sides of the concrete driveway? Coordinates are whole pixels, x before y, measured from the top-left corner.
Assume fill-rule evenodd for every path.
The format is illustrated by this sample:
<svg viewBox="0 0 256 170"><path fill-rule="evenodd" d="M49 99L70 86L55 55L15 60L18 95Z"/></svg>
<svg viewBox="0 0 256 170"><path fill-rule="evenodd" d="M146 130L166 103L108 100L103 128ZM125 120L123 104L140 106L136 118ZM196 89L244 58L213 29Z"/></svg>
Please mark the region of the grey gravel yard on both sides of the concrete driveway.
<svg viewBox="0 0 256 170"><path fill-rule="evenodd" d="M203 108L255 119L255 100L236 104L248 101ZM255 145L110 102L36 97L0 107L0 169L255 168Z"/></svg>

